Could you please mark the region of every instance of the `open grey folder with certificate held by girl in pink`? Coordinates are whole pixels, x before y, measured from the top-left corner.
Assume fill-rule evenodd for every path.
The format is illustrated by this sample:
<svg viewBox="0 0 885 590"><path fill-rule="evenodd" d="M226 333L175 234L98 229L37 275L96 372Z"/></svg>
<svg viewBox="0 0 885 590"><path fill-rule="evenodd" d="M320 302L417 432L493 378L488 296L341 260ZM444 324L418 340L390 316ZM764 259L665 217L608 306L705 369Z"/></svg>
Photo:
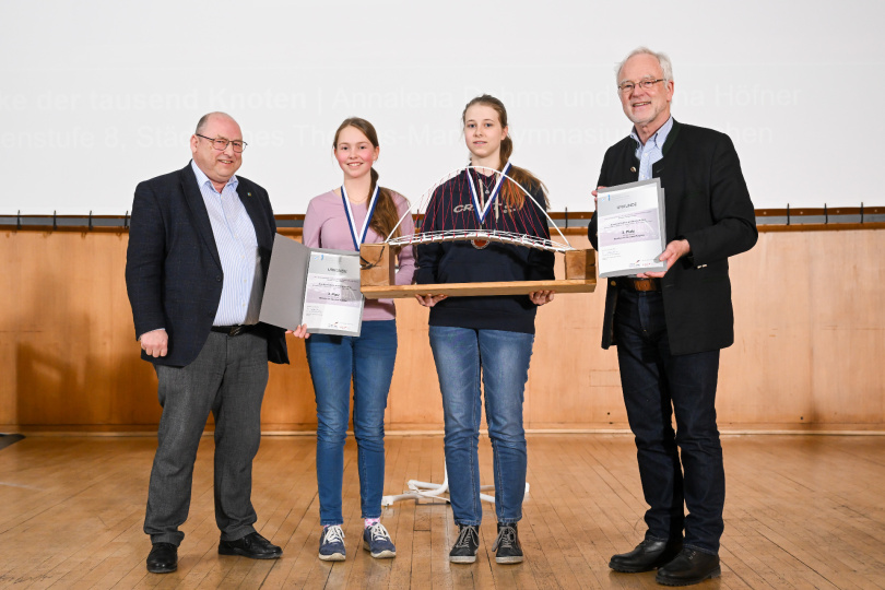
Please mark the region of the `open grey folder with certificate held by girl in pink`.
<svg viewBox="0 0 885 590"><path fill-rule="evenodd" d="M274 236L260 321L286 330L307 323L311 334L358 337L363 300L358 252L308 248Z"/></svg>

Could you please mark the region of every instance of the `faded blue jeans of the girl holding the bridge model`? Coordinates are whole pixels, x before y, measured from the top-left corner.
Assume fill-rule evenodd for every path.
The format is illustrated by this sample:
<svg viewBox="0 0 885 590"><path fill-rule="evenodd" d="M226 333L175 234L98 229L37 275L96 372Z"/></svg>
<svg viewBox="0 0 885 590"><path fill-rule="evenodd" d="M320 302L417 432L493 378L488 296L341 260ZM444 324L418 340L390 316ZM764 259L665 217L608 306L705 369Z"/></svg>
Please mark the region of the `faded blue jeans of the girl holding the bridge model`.
<svg viewBox="0 0 885 590"><path fill-rule="evenodd" d="M480 379L492 439L495 511L498 522L522 518L526 494L526 430L522 400L529 378L533 334L430 326L442 411L446 468L455 522L480 524Z"/></svg>

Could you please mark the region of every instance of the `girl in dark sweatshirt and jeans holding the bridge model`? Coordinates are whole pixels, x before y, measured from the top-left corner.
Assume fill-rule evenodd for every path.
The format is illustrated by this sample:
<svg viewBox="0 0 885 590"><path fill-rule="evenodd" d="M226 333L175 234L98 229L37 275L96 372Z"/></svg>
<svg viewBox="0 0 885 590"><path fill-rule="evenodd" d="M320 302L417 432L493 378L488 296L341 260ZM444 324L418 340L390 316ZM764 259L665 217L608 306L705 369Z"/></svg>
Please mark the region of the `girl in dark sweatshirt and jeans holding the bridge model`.
<svg viewBox="0 0 885 590"><path fill-rule="evenodd" d="M528 170L509 164L514 144L504 104L493 96L477 96L468 103L462 121L471 168L435 190L422 231L487 229L548 239L544 186ZM445 241L418 246L417 255L418 284L554 278L553 252L526 246L480 239ZM418 295L417 299L432 308L430 347L442 391L449 495L460 527L449 559L476 559L482 521L477 453L482 384L494 453L495 560L522 562L517 531L527 465L522 402L535 312L538 306L553 300L553 292L452 298Z"/></svg>

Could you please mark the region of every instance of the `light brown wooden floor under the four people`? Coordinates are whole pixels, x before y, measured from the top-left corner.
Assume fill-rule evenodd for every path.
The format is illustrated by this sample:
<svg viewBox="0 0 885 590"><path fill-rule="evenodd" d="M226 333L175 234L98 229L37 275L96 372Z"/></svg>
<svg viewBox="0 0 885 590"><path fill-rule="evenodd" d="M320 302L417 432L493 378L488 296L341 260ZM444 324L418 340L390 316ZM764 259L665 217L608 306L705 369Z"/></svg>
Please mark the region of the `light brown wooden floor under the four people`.
<svg viewBox="0 0 885 590"><path fill-rule="evenodd" d="M885 437L727 436L723 445L722 577L696 588L885 588ZM257 528L283 546L283 558L219 556L213 442L204 437L179 569L148 574L141 528L154 448L149 437L28 437L0 450L0 587L659 588L653 573L606 566L645 530L629 436L530 436L531 494L519 529L526 562L516 566L494 563L491 505L473 565L447 559L456 536L449 508L413 502L382 516L397 558L373 559L361 542L350 439L347 559L320 562L315 445L304 436L266 437L255 465ZM487 439L481 460L491 483ZM441 437L390 436L387 461L387 494L409 479L441 481Z"/></svg>

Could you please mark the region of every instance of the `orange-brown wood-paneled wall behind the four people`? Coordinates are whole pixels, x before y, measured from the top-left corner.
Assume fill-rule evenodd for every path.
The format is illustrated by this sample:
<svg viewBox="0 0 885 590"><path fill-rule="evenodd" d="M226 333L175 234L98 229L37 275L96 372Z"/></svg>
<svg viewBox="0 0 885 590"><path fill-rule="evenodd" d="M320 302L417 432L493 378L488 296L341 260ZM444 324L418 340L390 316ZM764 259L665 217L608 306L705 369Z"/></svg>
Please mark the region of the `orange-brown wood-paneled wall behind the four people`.
<svg viewBox="0 0 885 590"><path fill-rule="evenodd" d="M0 430L157 422L156 378L139 359L126 296L127 237L0 235ZM722 354L720 424L885 428L883 251L881 229L763 233L731 260L738 339ZM600 286L540 309L527 427L626 427L615 351L599 345L603 299ZM397 308L388 428L441 429L427 310L404 299ZM268 430L316 424L303 342L290 339L290 355L292 365L271 366Z"/></svg>

